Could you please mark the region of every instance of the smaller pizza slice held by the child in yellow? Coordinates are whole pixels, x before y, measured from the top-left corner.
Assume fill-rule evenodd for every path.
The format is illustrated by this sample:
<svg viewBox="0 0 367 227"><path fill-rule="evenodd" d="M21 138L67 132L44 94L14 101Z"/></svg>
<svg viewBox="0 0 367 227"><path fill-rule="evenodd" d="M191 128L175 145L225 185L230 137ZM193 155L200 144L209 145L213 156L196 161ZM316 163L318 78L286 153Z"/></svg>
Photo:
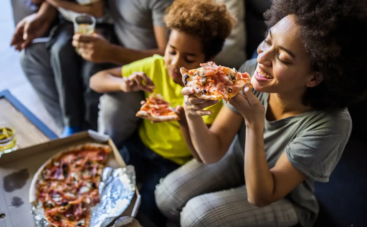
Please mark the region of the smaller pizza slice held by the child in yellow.
<svg viewBox="0 0 367 227"><path fill-rule="evenodd" d="M166 102L160 94L151 94L136 114L137 117L155 122L167 122L179 120L174 108Z"/></svg>

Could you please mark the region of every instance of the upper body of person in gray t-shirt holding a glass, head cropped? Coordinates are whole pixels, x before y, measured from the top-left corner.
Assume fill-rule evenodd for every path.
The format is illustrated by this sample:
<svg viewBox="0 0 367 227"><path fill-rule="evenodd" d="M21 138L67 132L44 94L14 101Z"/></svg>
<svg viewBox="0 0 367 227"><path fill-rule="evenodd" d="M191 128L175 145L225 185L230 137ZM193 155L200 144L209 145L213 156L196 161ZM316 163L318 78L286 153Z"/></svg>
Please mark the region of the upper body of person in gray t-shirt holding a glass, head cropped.
<svg viewBox="0 0 367 227"><path fill-rule="evenodd" d="M73 45L82 47L85 60L128 64L153 54L164 54L167 29L163 17L173 0L108 0L119 45L98 35L76 35ZM92 45L91 45L92 44ZM148 51L146 51L148 50Z"/></svg>

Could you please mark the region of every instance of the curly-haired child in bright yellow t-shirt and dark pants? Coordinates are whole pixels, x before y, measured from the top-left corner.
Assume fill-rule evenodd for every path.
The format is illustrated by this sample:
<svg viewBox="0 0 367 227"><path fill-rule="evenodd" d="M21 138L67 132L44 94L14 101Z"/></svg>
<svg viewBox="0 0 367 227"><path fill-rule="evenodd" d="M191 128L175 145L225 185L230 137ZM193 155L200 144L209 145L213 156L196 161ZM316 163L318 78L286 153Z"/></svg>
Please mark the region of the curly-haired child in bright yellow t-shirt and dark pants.
<svg viewBox="0 0 367 227"><path fill-rule="evenodd" d="M224 4L210 0L175 0L167 8L165 22L171 33L164 57L153 55L123 67L99 72L90 79L91 89L97 92L153 91L161 94L172 107L182 105L184 86L181 67L194 69L212 60L224 45L233 27L233 18ZM212 101L206 109L204 122L210 126L222 102ZM154 190L162 177L192 158L193 148L183 109L178 108L178 122L152 123L143 120L138 133L120 150L127 164L134 165L137 182L142 183L142 203L139 210L158 226L164 226L164 216L155 205Z"/></svg>

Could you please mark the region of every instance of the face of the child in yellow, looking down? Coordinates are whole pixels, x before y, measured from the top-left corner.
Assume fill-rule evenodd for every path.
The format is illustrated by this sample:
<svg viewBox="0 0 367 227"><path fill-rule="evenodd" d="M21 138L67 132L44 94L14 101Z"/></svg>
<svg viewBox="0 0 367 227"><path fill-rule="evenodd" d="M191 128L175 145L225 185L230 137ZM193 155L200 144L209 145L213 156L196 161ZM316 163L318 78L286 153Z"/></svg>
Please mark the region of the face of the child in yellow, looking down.
<svg viewBox="0 0 367 227"><path fill-rule="evenodd" d="M204 63L204 60L203 45L198 37L172 29L164 53L164 61L174 82L183 87L180 68L196 69L200 67L201 63Z"/></svg>

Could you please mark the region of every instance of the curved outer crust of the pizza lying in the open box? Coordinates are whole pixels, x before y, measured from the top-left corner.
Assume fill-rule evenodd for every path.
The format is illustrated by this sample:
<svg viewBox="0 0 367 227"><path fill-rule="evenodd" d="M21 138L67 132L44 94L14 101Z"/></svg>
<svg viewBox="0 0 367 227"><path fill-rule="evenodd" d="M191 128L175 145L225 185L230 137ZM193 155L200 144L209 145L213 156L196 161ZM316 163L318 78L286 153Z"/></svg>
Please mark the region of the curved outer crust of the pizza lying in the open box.
<svg viewBox="0 0 367 227"><path fill-rule="evenodd" d="M45 163L43 163L43 165L37 170L37 172L34 174L33 179L30 183L29 202L32 205L35 205L35 206L38 205L37 183L38 183L38 180L41 180L41 174L43 170L45 169L45 167L51 164L54 160L59 159L60 156L62 156L63 154L68 153L70 151L77 151L83 148L102 148L103 150L108 151L108 153L111 151L111 148L109 145L97 144L97 143L87 143L87 144L81 144L81 145L76 145L76 146L66 148L58 152L57 154L51 156L51 158L49 158Z"/></svg>

